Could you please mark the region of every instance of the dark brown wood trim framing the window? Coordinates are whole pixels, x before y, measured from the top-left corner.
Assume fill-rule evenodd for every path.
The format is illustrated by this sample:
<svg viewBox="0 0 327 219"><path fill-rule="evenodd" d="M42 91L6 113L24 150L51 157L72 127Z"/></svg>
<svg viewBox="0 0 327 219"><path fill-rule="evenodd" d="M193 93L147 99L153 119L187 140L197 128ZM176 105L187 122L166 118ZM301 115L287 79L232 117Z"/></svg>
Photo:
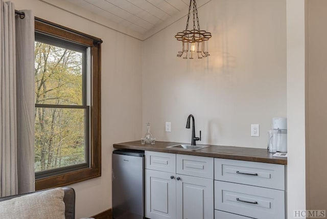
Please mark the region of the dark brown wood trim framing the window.
<svg viewBox="0 0 327 219"><path fill-rule="evenodd" d="M42 20L42 19L39 19ZM90 105L90 167L37 179L35 189L70 185L101 176L101 43L94 43L96 37L80 35L77 31L54 26L48 21L35 18L35 31L74 41L91 48L92 102Z"/></svg>

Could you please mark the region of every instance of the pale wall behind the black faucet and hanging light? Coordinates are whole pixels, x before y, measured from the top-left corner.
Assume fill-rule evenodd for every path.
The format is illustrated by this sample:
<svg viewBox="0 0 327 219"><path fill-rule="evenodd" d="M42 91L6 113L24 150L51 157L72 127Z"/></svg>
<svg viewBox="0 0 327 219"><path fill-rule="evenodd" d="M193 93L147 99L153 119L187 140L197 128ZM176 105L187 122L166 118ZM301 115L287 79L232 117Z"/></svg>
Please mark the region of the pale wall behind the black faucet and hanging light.
<svg viewBox="0 0 327 219"><path fill-rule="evenodd" d="M208 58L176 57L187 17L143 43L143 134L149 121L157 140L190 143L193 114L199 143L266 148L271 118L286 117L286 0L215 0L198 12L213 35Z"/></svg>

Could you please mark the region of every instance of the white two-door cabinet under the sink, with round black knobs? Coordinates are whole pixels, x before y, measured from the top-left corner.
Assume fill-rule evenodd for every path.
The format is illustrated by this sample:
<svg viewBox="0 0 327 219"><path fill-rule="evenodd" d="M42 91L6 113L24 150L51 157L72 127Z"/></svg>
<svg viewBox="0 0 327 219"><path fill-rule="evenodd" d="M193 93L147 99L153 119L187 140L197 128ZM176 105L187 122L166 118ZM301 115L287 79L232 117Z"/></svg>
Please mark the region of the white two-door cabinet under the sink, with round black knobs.
<svg viewBox="0 0 327 219"><path fill-rule="evenodd" d="M145 155L146 217L214 219L213 158L154 151Z"/></svg>

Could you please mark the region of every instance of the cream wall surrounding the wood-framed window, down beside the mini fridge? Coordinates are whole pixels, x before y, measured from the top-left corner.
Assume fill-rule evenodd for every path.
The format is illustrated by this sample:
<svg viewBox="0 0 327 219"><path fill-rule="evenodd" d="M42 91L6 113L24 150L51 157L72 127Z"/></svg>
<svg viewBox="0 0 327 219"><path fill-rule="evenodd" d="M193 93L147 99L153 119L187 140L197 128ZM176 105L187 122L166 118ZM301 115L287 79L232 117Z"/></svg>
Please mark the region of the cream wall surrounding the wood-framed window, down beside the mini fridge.
<svg viewBox="0 0 327 219"><path fill-rule="evenodd" d="M76 217L96 215L111 208L112 144L141 137L142 42L37 0L12 2L18 10L32 9L35 16L103 40L102 176L72 185L76 190Z"/></svg>

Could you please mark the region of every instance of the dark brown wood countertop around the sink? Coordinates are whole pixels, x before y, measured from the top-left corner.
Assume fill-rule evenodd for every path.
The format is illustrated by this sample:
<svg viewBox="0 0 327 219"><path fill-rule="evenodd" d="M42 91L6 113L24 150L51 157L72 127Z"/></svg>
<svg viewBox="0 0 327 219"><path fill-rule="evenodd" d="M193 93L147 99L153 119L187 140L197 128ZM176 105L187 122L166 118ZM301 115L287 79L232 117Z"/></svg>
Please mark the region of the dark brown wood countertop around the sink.
<svg viewBox="0 0 327 219"><path fill-rule="evenodd" d="M184 143L156 141L155 144L141 144L141 141L131 141L113 144L113 147L116 149L149 150L181 155L196 155L202 157L287 165L287 158L273 157L272 155L274 153L269 153L267 149L263 148L209 145L208 147L199 150L191 150L167 147L177 144ZM201 146L200 144L197 145Z"/></svg>

